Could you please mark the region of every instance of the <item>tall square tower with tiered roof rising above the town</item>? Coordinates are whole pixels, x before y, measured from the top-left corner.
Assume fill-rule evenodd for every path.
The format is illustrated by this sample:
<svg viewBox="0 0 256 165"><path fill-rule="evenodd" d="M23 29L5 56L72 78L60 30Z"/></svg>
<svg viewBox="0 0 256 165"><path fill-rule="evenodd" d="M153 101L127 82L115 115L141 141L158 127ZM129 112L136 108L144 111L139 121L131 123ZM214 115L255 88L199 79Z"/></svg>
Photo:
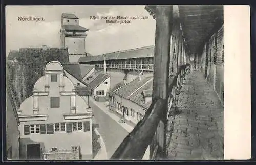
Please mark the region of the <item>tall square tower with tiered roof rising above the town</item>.
<svg viewBox="0 0 256 165"><path fill-rule="evenodd" d="M86 55L87 28L79 26L79 18L75 14L62 13L60 29L60 45L68 48L69 61L77 62Z"/></svg>

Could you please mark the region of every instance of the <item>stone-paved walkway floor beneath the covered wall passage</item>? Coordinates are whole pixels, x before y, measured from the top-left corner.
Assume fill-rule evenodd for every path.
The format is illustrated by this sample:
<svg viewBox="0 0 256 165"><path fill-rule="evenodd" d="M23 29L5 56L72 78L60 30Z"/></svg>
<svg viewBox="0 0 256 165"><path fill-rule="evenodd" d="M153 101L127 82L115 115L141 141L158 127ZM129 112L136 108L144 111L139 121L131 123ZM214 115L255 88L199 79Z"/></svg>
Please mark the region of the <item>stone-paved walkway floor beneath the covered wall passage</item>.
<svg viewBox="0 0 256 165"><path fill-rule="evenodd" d="M178 101L168 159L223 159L224 108L201 72L186 76Z"/></svg>

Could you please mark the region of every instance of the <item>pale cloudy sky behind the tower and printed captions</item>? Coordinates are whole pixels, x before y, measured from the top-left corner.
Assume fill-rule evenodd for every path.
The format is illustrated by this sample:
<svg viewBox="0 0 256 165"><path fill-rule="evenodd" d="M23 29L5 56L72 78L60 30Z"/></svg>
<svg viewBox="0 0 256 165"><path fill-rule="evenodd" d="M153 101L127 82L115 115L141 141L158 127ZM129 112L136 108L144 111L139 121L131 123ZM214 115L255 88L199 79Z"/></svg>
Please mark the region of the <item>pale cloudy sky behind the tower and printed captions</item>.
<svg viewBox="0 0 256 165"><path fill-rule="evenodd" d="M86 51L99 55L155 44L156 21L141 5L130 6L6 6L6 56L22 47L60 47L62 13L75 13L79 25L89 29ZM147 16L126 24L107 24L90 16ZM19 21L18 17L45 21Z"/></svg>

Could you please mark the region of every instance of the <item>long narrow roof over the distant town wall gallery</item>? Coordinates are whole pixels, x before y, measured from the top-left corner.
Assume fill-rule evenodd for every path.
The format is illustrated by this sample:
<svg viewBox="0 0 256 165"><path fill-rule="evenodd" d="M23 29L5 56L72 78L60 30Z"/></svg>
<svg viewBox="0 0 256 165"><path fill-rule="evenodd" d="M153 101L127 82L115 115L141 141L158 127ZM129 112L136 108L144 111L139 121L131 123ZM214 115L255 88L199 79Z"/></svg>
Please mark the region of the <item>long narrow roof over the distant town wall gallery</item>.
<svg viewBox="0 0 256 165"><path fill-rule="evenodd" d="M90 61L103 61L105 60L120 60L120 59L130 59L130 58L146 58L154 57L154 46L146 46L142 48L136 48L131 50L117 51L106 53L98 56L91 57L81 57L78 62L90 62Z"/></svg>

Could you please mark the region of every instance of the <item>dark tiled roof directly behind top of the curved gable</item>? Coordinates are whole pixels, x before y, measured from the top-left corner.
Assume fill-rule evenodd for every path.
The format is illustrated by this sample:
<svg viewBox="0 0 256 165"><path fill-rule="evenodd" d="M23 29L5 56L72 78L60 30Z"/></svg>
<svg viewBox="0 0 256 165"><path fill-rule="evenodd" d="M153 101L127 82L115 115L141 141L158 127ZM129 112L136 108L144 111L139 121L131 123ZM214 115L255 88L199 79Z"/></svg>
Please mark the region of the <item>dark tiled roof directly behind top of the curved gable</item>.
<svg viewBox="0 0 256 165"><path fill-rule="evenodd" d="M59 61L69 63L68 48L20 48L20 62L48 63Z"/></svg>

